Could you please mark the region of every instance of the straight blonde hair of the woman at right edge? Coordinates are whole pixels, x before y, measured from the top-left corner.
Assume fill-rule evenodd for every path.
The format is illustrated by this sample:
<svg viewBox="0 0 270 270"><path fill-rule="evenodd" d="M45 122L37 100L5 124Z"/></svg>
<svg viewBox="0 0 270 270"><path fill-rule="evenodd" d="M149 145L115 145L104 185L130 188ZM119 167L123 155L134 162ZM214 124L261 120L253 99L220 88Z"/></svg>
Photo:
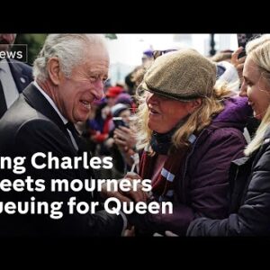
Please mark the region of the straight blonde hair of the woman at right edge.
<svg viewBox="0 0 270 270"><path fill-rule="evenodd" d="M251 58L257 65L258 70L261 72L262 78L266 79L269 83L269 88L264 89L269 91L270 94L270 34L262 35L256 40L251 40L247 43L247 57ZM263 117L259 125L254 139L247 145L245 155L250 156L254 151L259 148L270 123L270 106L266 110L266 115Z"/></svg>

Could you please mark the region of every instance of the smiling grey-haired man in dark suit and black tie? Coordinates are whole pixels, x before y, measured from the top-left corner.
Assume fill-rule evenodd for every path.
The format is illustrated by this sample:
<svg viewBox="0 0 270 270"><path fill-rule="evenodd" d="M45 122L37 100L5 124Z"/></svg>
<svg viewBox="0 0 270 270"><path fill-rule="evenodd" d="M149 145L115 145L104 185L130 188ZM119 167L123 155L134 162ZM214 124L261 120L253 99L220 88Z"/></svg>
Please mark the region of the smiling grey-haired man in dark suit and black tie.
<svg viewBox="0 0 270 270"><path fill-rule="evenodd" d="M54 157L77 157L85 151L76 134L74 123L85 121L94 100L103 97L103 84L108 77L109 56L103 37L88 34L50 34L40 55L34 61L35 81L28 85L4 117L0 120L0 153L4 157L26 157L26 172L15 175L2 170L1 178L44 179L44 192L2 193L2 202L36 201L64 202L63 217L58 220L45 214L0 215L0 235L23 236L112 236L121 235L125 228L123 215L112 215L102 208L93 214L71 214L68 199L76 196L78 202L100 200L98 193L50 192L53 178L91 179L92 169L79 163L77 169L31 166L31 157L40 152ZM88 161L90 156L88 155ZM87 162L88 162L87 161ZM44 162L44 159L40 160ZM89 164L89 163L88 163ZM96 197L93 197L96 196Z"/></svg>

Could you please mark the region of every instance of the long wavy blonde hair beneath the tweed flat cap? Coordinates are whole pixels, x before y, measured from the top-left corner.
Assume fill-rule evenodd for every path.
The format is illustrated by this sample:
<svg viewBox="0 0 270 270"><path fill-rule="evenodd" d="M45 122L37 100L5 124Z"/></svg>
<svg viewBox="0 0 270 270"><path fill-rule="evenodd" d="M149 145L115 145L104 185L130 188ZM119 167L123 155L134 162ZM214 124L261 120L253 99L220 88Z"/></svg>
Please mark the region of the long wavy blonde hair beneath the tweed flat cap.
<svg viewBox="0 0 270 270"><path fill-rule="evenodd" d="M211 123L211 117L221 112L224 108L223 101L227 97L234 95L224 83L217 83L214 86L211 97L202 98L201 106L195 110L184 122L172 138L175 148L180 148L183 145L189 144L188 139L194 131L201 131L203 128ZM137 148L148 148L148 144L151 139L152 130L148 128L148 106L146 103L147 92L139 93L137 96L139 100L139 109L134 119L134 124L137 127ZM149 155L153 155L154 152L151 148L148 148Z"/></svg>

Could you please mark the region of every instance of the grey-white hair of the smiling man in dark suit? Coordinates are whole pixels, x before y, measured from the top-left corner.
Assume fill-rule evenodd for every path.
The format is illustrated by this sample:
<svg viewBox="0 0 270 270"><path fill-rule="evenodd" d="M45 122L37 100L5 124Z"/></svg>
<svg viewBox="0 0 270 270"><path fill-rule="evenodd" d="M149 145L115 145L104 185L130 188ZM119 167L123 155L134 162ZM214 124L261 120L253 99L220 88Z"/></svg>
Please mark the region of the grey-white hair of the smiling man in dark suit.
<svg viewBox="0 0 270 270"><path fill-rule="evenodd" d="M44 82L48 78L47 63L52 57L59 59L65 76L71 76L73 67L84 62L87 44L106 47L102 34L49 34L33 63L33 76Z"/></svg>

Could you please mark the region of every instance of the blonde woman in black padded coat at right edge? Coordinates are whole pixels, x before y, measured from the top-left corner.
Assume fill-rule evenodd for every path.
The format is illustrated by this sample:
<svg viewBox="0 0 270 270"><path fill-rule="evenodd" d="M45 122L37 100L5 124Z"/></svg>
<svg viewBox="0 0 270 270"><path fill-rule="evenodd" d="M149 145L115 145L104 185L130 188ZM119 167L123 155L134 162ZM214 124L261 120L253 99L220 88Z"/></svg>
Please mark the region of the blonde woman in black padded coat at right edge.
<svg viewBox="0 0 270 270"><path fill-rule="evenodd" d="M245 156L230 166L229 217L193 220L187 236L270 235L270 35L247 43L241 96L261 121Z"/></svg>

